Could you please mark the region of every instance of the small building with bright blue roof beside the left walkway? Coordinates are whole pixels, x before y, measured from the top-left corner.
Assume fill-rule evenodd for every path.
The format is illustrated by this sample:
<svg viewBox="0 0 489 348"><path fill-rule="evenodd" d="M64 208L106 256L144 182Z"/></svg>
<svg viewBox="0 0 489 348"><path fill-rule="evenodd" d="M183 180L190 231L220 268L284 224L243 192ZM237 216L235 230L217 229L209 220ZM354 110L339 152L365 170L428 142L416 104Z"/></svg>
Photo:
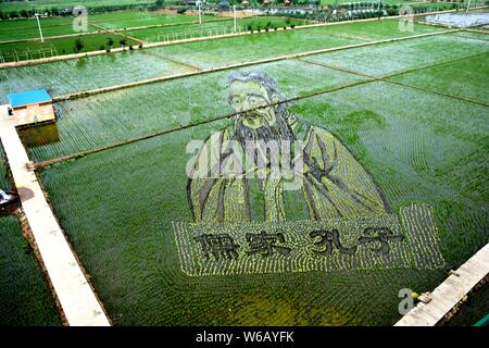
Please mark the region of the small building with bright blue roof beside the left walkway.
<svg viewBox="0 0 489 348"><path fill-rule="evenodd" d="M21 124L53 121L52 99L46 89L8 95L13 117Z"/></svg>

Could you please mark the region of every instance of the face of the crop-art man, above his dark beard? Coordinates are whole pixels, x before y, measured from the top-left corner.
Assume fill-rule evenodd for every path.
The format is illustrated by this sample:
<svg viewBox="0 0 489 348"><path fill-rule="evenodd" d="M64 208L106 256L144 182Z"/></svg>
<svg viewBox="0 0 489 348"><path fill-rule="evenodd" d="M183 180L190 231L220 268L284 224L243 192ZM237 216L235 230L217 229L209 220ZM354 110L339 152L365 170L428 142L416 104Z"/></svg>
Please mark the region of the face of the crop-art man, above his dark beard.
<svg viewBox="0 0 489 348"><path fill-rule="evenodd" d="M229 103L234 112L239 113L238 117L247 127L256 129L272 126L276 121L274 107L252 109L274 102L277 102L277 100L271 100L266 88L255 82L235 80L230 85Z"/></svg>

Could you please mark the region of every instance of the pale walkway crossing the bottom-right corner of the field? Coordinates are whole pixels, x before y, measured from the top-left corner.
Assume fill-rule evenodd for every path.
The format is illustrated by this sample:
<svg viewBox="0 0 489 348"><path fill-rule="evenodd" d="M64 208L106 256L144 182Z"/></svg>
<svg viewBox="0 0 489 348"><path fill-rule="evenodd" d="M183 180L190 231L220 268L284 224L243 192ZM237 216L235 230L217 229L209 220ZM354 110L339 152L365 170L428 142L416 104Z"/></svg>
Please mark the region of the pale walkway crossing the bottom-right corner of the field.
<svg viewBox="0 0 489 348"><path fill-rule="evenodd" d="M434 326L489 274L489 244L453 272L430 295L394 326Z"/></svg>

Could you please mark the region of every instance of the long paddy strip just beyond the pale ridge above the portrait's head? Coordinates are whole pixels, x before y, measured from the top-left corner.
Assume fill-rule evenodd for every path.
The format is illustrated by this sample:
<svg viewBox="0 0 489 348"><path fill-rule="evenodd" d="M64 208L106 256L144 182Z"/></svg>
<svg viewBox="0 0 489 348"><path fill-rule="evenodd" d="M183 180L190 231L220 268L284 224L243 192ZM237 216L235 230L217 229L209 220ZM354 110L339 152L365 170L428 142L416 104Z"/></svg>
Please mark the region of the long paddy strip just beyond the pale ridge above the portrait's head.
<svg viewBox="0 0 489 348"><path fill-rule="evenodd" d="M396 21L375 21L365 23L364 30L360 34L363 39L356 39L355 35L360 30L356 23L341 24L339 27L344 33L353 32L354 35L350 34L348 38L341 35L337 36L339 28L325 26L301 30L262 33L236 38L113 53L78 61L0 70L0 101L7 102L7 94L12 90L22 91L28 88L49 86L53 96L60 96L188 71L188 66L178 66L178 64L168 62L165 58L201 69L216 67L265 57L361 44L365 41L364 38L366 37L372 37L371 40L375 40L442 30L438 27L416 25L413 33L404 33L398 30ZM390 30L387 28L390 28ZM334 35L330 35L330 33ZM114 41L117 41L115 37ZM105 41L101 42L101 45L104 44ZM73 49L73 45L70 45L68 49ZM168 64L170 69L166 69ZM74 79L72 76L77 76L77 78Z"/></svg>

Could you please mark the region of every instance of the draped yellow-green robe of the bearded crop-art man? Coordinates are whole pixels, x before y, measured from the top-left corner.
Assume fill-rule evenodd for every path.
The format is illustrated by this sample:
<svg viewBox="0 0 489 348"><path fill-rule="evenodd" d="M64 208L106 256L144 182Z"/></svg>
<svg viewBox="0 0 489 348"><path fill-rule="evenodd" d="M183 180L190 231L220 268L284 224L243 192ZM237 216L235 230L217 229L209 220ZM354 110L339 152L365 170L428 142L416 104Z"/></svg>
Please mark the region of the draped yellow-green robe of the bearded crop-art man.
<svg viewBox="0 0 489 348"><path fill-rule="evenodd" d="M223 169L229 170L235 164L229 160L228 146L234 129L214 133L197 154L188 181L187 194L195 221L326 220L387 212L372 176L337 138L296 117L292 129L296 138L304 144L306 160L300 173L302 185L297 190L284 189L283 177L250 177L250 173L259 171L255 165L244 167L246 174L216 175L220 170L229 173ZM239 150L244 153L244 149Z"/></svg>

